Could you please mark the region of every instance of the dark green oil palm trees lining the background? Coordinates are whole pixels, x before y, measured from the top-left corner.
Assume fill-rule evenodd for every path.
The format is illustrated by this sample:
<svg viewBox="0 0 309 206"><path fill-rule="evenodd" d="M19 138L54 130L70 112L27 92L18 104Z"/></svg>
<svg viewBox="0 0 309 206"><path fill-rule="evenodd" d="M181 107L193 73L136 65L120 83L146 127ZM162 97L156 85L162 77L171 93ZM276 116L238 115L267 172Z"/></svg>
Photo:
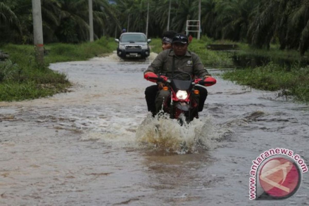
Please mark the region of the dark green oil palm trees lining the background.
<svg viewBox="0 0 309 206"><path fill-rule="evenodd" d="M184 32L198 19L199 0L172 0L170 29ZM111 3L112 2L112 3ZM114 36L121 28L146 32L166 30L169 0L93 0L95 38ZM88 40L87 0L41 0L45 42ZM309 47L309 0L201 0L202 34L214 39L246 41L256 48L278 42L281 49ZM0 0L0 42L32 42L31 0ZM118 32L119 34L119 32Z"/></svg>

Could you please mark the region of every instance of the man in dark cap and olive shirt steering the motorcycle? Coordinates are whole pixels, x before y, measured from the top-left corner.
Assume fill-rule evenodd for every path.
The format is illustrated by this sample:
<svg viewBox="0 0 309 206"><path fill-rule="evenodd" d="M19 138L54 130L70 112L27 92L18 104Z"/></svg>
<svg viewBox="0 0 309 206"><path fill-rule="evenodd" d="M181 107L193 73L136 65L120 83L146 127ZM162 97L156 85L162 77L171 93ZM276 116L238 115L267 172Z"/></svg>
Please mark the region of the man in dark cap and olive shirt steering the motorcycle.
<svg viewBox="0 0 309 206"><path fill-rule="evenodd" d="M172 46L173 49L167 49L159 53L148 69L146 69L144 75L149 72L153 72L155 74L171 74L173 70L173 59L175 59L174 72L187 72L192 76L203 78L210 76L201 63L200 58L195 53L188 51L188 37L185 34L176 34L172 39ZM150 110L153 115L161 110L163 99L170 95L169 91L162 90L164 85L162 82L157 82L157 84L159 85L159 91L156 92L157 94L155 97L155 113ZM196 89L200 91L198 111L202 111L207 97L207 90L202 86L196 86ZM148 102L147 105L149 110Z"/></svg>

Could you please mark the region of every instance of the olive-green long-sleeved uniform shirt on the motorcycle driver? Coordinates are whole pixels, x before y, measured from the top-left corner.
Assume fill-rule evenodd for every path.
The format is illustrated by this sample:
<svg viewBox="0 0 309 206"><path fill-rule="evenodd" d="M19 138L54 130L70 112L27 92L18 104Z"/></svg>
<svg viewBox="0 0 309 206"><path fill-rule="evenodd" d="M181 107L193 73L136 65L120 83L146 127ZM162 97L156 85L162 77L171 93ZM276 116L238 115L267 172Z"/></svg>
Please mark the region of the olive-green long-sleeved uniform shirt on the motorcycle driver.
<svg viewBox="0 0 309 206"><path fill-rule="evenodd" d="M167 49L159 53L145 72L154 72L155 74L165 74L170 76L173 65L173 56L175 57L175 74L186 72L197 77L210 75L204 68L200 58L195 53L187 51L183 57L177 57L172 49ZM183 77L182 79L188 78L188 75L181 76Z"/></svg>

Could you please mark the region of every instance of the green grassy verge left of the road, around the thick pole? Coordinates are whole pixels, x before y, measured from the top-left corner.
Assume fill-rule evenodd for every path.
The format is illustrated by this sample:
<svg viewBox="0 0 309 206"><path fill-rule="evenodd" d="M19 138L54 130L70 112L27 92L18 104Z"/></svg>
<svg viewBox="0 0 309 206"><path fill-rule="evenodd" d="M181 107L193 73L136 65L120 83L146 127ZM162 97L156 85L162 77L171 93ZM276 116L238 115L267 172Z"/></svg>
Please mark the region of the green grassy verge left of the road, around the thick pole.
<svg viewBox="0 0 309 206"><path fill-rule="evenodd" d="M81 61L116 48L113 39L101 38L83 44L47 44L49 54L44 58L45 66L35 63L33 45L1 45L0 49L10 55L0 61L0 101L18 101L52 96L67 91L70 86L65 74L48 68L50 63Z"/></svg>

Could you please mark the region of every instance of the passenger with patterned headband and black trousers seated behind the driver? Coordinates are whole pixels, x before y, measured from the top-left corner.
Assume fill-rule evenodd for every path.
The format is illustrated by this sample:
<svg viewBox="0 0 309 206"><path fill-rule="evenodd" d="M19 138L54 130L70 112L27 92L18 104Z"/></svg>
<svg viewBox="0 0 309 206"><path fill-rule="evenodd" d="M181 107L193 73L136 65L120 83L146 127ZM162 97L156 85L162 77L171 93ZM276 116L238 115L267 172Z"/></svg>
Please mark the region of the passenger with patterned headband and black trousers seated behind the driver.
<svg viewBox="0 0 309 206"><path fill-rule="evenodd" d="M175 35L176 35L176 32L174 31L167 31L163 33L163 37L162 37L163 51L166 49L173 48L172 39ZM145 98L147 102L148 111L150 111L153 116L155 116L156 114L155 98L157 96L158 91L162 88L163 88L163 83L157 82L157 85L148 86L145 90Z"/></svg>

